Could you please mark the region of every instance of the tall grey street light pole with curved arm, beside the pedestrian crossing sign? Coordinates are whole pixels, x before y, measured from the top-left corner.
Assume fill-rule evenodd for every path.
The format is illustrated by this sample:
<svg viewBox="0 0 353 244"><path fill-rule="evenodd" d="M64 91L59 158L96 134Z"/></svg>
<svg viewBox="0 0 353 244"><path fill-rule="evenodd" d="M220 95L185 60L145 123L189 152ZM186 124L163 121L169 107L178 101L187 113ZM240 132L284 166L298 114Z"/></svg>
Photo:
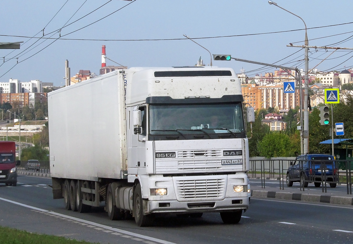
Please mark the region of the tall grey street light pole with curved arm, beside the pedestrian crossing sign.
<svg viewBox="0 0 353 244"><path fill-rule="evenodd" d="M273 4L279 8L282 8L280 6L278 6L274 1L268 1L269 4ZM304 65L304 130L302 130L302 137L303 137L303 150L304 153L308 153L309 152L309 111L308 111L308 90L309 90L309 41L308 41L308 37L307 37L307 28L306 28L306 24L304 22L304 20L299 17L297 14L294 14L288 10L286 10L285 8L282 8L283 10L287 11L288 13L293 14L294 16L297 16L299 19L301 19L301 21L303 21L304 25L305 25L305 65ZM300 86L301 86L301 80L300 80ZM300 101L301 102L301 101Z"/></svg>

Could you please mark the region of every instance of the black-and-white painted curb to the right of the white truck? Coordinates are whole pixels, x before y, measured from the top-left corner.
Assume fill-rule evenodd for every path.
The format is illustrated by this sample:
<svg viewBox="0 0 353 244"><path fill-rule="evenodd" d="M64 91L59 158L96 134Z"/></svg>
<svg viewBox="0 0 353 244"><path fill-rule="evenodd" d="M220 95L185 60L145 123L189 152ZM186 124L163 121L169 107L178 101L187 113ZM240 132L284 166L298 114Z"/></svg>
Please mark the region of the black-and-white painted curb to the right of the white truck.
<svg viewBox="0 0 353 244"><path fill-rule="evenodd" d="M262 191L262 190L251 190L251 196L305 201L305 202L343 204L343 205L353 206L353 197L346 197L346 196L327 196L327 195L314 195L314 194L305 194L305 193L290 193L290 192Z"/></svg>

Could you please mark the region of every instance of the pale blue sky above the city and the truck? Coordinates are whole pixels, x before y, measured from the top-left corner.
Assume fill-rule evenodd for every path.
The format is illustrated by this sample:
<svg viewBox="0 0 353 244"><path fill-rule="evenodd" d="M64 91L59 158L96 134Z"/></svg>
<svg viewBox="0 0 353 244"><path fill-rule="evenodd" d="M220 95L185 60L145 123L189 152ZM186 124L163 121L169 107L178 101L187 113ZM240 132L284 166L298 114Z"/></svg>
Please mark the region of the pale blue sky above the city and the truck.
<svg viewBox="0 0 353 244"><path fill-rule="evenodd" d="M353 48L353 1L275 2L305 21L309 46ZM110 60L128 67L193 66L200 56L209 65L202 45L211 54L304 69L304 49L287 47L304 45L303 21L267 0L12 0L1 10L0 42L24 43L0 49L0 82L65 85L65 60L71 77L80 69L99 74L102 45ZM353 67L353 50L309 51L309 69ZM110 60L107 66L116 65ZM249 77L275 70L235 60L212 63L237 73L243 68Z"/></svg>

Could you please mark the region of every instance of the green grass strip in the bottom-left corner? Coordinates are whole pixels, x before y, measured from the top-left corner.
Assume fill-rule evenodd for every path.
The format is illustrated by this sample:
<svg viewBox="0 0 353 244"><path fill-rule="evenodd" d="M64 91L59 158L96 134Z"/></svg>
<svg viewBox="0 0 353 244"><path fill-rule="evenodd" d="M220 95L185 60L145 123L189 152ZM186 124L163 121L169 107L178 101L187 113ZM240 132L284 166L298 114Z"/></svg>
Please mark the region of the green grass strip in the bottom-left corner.
<svg viewBox="0 0 353 244"><path fill-rule="evenodd" d="M20 231L0 226L1 244L92 244L90 242L67 239L65 237L50 236Z"/></svg>

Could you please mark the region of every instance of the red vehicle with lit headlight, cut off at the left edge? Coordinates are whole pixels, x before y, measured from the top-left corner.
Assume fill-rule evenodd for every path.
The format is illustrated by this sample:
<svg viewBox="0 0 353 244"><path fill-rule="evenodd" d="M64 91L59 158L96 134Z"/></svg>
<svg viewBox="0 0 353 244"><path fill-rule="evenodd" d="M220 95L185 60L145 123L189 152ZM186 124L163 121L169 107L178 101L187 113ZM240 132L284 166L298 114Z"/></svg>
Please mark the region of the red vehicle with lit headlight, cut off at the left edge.
<svg viewBox="0 0 353 244"><path fill-rule="evenodd" d="M16 144L14 141L0 141L0 183L17 185L16 166L21 164L16 159Z"/></svg>

